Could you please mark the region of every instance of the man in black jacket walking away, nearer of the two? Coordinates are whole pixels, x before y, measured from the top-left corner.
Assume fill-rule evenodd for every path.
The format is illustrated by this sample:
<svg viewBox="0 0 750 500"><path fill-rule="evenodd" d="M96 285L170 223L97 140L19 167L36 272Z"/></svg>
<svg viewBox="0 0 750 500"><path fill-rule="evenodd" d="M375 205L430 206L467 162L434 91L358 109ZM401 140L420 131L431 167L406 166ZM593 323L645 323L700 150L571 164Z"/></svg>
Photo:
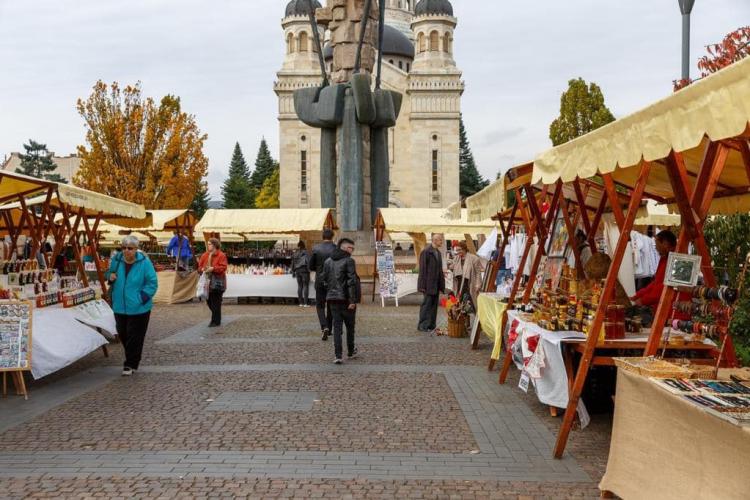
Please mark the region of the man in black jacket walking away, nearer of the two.
<svg viewBox="0 0 750 500"><path fill-rule="evenodd" d="M357 304L362 297L362 289L357 276L357 266L352 258L354 242L348 238L339 241L339 247L333 251L331 258L323 266L326 300L333 314L333 343L336 352L334 363L342 363L342 341L344 324L346 324L346 347L350 358L357 357L354 345L354 323Z"/></svg>

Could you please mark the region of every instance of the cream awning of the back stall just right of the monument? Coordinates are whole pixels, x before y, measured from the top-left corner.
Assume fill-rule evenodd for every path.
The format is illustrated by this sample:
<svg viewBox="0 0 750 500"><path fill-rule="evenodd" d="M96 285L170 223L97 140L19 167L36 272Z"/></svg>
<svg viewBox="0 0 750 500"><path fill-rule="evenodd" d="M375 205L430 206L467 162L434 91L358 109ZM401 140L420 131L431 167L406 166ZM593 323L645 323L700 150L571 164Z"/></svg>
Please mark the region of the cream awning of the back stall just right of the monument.
<svg viewBox="0 0 750 500"><path fill-rule="evenodd" d="M460 219L449 219L443 208L381 208L376 224L385 230L402 233L490 234L497 223L491 219L469 222L468 210Z"/></svg>

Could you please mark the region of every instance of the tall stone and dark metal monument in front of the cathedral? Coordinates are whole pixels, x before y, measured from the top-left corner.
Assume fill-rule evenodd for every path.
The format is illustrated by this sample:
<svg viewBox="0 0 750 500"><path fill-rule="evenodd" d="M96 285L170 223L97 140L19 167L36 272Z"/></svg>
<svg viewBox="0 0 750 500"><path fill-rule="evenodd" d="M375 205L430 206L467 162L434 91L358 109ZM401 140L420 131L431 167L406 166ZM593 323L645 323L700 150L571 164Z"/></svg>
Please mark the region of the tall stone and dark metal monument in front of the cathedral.
<svg viewBox="0 0 750 500"><path fill-rule="evenodd" d="M388 128L402 102L401 94L381 88L385 0L375 1L329 0L315 10L308 0L322 83L294 92L299 119L321 129L321 206L336 209L344 232L369 232L377 209L388 206ZM318 25L331 33L330 82Z"/></svg>

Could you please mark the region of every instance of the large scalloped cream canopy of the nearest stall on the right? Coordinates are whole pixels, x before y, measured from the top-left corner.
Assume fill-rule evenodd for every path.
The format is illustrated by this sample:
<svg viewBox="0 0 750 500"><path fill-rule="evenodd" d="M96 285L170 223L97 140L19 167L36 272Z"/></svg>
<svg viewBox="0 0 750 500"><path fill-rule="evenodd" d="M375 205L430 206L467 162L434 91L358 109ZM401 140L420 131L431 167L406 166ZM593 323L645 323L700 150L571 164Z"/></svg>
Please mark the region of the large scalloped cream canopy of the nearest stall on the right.
<svg viewBox="0 0 750 500"><path fill-rule="evenodd" d="M708 141L737 138L750 122L750 58L704 78L630 116L542 153L534 162L533 183L569 182L611 173L615 181L634 186L642 160L659 162L682 153L689 176L695 177ZM746 138L742 139L746 143ZM750 210L748 170L737 141L728 141L726 166L712 213ZM669 177L655 165L646 193L670 202ZM724 196L720 191L726 193Z"/></svg>

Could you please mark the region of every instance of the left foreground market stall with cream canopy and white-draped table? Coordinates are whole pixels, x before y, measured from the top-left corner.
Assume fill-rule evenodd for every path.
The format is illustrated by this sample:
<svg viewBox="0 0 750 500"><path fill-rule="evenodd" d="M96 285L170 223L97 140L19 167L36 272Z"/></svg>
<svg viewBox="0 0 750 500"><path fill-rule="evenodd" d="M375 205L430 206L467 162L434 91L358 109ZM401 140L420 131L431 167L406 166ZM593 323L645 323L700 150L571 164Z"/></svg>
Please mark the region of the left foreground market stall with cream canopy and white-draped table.
<svg viewBox="0 0 750 500"><path fill-rule="evenodd" d="M0 217L11 247L21 237L30 240L28 257L18 257L14 252L2 262L0 294L10 299L4 307L11 307L3 322L20 321L21 326L3 326L0 371L31 371L39 378L104 347L105 336L116 335L112 310L101 300L107 288L97 227L105 217L143 218L145 210L75 186L8 172L0 172L0 202ZM82 259L80 233L87 239L96 277L93 282ZM50 238L54 244L46 246ZM60 276L51 267L66 246L75 255L76 276ZM25 328L27 334L14 335L11 331L23 332ZM12 356L8 358L8 353L19 352L28 354L26 363L18 361L23 356L16 362ZM25 388L18 387L23 377L16 377L14 382L25 393Z"/></svg>

